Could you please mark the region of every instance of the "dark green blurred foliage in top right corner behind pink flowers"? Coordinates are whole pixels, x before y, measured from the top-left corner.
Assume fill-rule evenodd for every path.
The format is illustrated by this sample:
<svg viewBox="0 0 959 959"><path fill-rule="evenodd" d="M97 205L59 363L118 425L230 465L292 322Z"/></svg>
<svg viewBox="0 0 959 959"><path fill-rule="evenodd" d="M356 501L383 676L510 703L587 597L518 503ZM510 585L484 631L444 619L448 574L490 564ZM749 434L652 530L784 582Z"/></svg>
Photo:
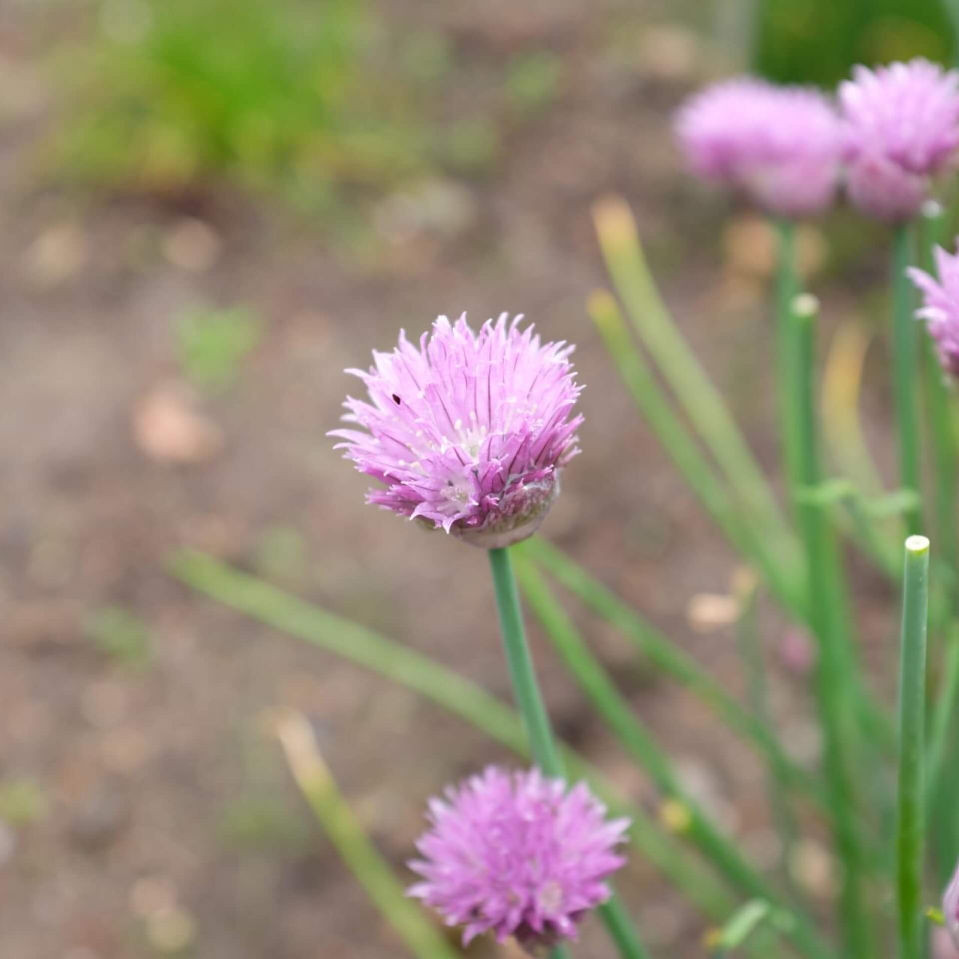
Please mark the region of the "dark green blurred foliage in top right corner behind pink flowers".
<svg viewBox="0 0 959 959"><path fill-rule="evenodd" d="M854 63L956 53L957 0L755 0L754 66L773 80L824 86Z"/></svg>

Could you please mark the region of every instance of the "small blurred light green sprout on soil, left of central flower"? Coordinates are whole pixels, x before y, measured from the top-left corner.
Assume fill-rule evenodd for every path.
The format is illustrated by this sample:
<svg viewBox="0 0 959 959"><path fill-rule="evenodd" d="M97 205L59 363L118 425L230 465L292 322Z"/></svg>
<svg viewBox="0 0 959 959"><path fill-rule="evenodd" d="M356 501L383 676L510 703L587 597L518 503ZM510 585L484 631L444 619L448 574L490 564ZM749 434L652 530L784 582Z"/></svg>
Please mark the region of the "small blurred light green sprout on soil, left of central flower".
<svg viewBox="0 0 959 959"><path fill-rule="evenodd" d="M186 378L200 389L219 392L232 386L240 366L263 332L260 317L246 307L196 307L176 323L176 351Z"/></svg>

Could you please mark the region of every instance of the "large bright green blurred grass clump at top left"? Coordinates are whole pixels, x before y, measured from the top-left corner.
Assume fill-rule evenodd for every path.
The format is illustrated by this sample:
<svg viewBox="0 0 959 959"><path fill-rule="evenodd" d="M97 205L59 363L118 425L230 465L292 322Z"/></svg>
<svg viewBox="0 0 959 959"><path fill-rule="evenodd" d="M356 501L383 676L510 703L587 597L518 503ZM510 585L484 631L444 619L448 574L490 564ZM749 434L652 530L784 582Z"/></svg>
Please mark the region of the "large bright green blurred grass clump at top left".
<svg viewBox="0 0 959 959"><path fill-rule="evenodd" d="M103 0L63 64L58 168L161 194L388 183L420 145L375 36L365 0Z"/></svg>

